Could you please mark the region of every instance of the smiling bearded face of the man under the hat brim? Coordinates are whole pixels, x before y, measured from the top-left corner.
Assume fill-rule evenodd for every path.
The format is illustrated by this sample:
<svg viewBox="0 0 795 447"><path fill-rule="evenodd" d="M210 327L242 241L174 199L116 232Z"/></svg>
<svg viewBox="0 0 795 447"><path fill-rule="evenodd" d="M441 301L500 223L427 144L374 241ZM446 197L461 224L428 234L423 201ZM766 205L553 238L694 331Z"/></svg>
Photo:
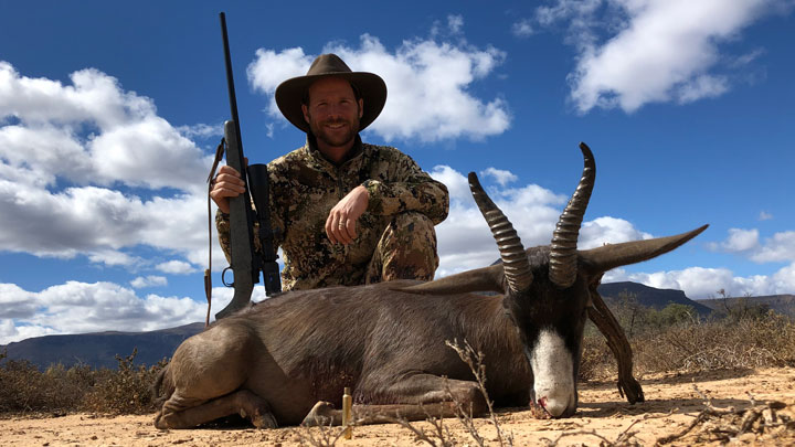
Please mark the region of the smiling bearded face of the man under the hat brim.
<svg viewBox="0 0 795 447"><path fill-rule="evenodd" d="M309 105L301 109L318 145L338 148L351 142L359 132L363 102L357 102L347 81L326 77L309 86Z"/></svg>

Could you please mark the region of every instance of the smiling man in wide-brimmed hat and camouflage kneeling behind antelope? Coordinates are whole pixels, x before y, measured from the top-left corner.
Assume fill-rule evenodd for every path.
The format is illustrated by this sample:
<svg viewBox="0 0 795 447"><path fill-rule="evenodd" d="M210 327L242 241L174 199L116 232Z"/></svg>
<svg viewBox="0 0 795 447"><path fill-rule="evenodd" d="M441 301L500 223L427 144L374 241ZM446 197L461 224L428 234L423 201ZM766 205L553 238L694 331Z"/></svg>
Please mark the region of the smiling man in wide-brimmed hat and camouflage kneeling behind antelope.
<svg viewBox="0 0 795 447"><path fill-rule="evenodd" d="M380 76L352 72L335 54L276 88L284 116L307 132L306 145L268 164L284 289L433 279L447 188L398 149L361 141L385 100ZM243 191L239 173L222 167L210 195L227 258L229 198Z"/></svg>

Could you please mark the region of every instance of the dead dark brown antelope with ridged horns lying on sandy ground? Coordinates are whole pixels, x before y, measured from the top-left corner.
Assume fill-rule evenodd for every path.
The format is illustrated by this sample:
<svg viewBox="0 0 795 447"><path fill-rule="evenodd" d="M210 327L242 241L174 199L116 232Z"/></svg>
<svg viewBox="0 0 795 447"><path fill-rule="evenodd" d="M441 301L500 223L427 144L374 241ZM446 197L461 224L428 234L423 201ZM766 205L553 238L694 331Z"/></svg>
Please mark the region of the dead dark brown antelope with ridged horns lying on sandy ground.
<svg viewBox="0 0 795 447"><path fill-rule="evenodd" d="M619 361L619 391L643 400L621 327L596 294L611 268L650 259L701 233L577 251L593 190L585 168L549 246L528 249L474 173L473 195L497 240L501 264L435 281L391 281L290 291L214 322L186 340L158 379L165 403L155 425L189 428L240 413L257 427L340 423L344 386L363 423L379 415L451 414L451 400L486 409L473 373L445 340L467 340L485 355L496 406L532 402L572 415L583 327L590 315ZM496 291L484 295L478 291ZM594 308L595 306L595 308ZM449 393L448 393L449 391ZM451 395L452 394L452 395Z"/></svg>

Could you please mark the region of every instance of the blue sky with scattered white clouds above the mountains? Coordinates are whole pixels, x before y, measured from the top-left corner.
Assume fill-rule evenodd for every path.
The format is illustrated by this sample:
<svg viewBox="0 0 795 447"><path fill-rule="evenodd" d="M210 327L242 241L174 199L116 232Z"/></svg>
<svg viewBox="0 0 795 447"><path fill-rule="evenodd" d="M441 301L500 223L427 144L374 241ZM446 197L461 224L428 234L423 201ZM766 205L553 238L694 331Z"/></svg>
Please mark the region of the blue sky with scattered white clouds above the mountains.
<svg viewBox="0 0 795 447"><path fill-rule="evenodd" d="M252 162L303 143L273 92L318 54L385 79L363 139L448 185L438 276L497 256L467 172L526 246L547 244L585 141L581 247L710 224L605 281L795 292L793 1L343 4L0 1L0 343L203 319L222 10ZM214 296L216 311L231 290Z"/></svg>

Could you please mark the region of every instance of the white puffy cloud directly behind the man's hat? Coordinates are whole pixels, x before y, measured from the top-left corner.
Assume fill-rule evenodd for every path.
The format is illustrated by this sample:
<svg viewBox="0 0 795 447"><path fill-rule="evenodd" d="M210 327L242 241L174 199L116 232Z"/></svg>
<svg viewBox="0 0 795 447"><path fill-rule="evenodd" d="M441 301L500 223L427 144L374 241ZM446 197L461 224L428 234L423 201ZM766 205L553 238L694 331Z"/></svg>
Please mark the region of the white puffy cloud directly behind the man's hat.
<svg viewBox="0 0 795 447"><path fill-rule="evenodd" d="M377 73L386 83L386 106L368 131L386 140L483 139L508 129L510 113L502 98L478 98L471 86L491 75L506 54L495 47L468 44L459 35L463 25L460 17L448 18L448 31L457 38L455 42L433 33L428 39L403 41L390 51L378 38L363 34L358 47L331 43L322 52L336 53L352 70ZM273 93L284 79L306 74L315 57L300 47L278 52L259 49L248 65L248 82L271 97L267 113L282 125L287 121L282 118Z"/></svg>

